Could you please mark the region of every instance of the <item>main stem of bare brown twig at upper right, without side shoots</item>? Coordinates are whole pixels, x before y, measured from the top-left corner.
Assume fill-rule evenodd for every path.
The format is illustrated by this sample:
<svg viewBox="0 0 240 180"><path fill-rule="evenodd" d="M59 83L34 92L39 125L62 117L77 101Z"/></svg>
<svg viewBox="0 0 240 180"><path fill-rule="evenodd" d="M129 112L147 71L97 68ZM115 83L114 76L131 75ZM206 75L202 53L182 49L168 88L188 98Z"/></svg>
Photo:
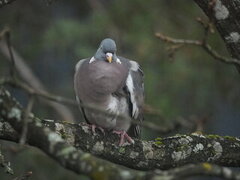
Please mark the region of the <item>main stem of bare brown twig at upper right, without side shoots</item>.
<svg viewBox="0 0 240 180"><path fill-rule="evenodd" d="M160 32L156 33L155 36L157 38L161 39L162 41L167 42L167 43L200 46L208 54L210 54L215 60L221 61L221 62L226 63L226 64L240 65L240 60L221 56L215 50L213 50L212 47L209 44L203 43L203 41L188 40L188 39L174 39L172 37L165 36Z"/></svg>

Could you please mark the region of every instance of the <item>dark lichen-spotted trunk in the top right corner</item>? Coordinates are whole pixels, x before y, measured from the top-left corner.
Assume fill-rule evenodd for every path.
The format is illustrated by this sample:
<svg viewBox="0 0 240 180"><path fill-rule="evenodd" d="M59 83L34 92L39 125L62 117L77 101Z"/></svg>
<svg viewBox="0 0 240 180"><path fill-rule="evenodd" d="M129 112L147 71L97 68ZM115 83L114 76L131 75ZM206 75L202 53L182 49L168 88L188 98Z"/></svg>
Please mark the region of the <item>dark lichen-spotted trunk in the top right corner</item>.
<svg viewBox="0 0 240 180"><path fill-rule="evenodd" d="M211 19L228 51L240 61L240 1L239 0L194 0ZM211 5L212 3L212 5ZM240 67L237 67L240 72Z"/></svg>

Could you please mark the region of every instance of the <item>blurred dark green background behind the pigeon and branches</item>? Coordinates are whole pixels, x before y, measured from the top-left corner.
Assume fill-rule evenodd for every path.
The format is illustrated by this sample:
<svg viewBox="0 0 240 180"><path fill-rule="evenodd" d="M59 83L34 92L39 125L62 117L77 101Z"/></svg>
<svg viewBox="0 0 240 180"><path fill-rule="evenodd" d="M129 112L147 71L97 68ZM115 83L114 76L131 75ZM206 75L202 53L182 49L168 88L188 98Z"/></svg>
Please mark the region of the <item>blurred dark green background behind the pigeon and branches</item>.
<svg viewBox="0 0 240 180"><path fill-rule="evenodd" d="M239 136L240 76L235 67L215 61L200 47L181 48L169 56L166 43L155 37L162 32L174 38L201 39L203 28L196 17L205 18L200 8L188 0L17 0L0 9L0 30L11 29L11 42L46 89L75 98L75 64L91 57L102 39L110 37L118 46L118 55L139 62L145 74L145 101L157 113L145 114L145 120L172 127L176 120L204 120L204 133ZM209 43L229 56L218 33ZM9 62L0 52L0 77L9 76ZM27 96L12 90L23 104ZM69 106L74 120L82 116ZM44 103L36 103L34 113L47 119L63 120ZM191 133L194 128L173 133ZM143 139L162 136L144 129ZM31 179L79 179L35 148L3 144L15 177L32 171ZM12 179L0 169L2 179Z"/></svg>

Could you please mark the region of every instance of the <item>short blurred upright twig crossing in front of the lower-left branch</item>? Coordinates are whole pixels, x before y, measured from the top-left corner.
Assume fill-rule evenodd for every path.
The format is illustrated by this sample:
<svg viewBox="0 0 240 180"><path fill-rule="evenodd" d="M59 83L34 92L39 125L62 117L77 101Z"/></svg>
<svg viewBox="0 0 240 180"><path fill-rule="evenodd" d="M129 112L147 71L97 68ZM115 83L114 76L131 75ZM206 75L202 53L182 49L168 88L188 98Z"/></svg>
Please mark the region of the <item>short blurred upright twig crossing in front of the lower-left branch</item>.
<svg viewBox="0 0 240 180"><path fill-rule="evenodd" d="M26 142L26 137L27 137L27 131L28 131L28 117L32 111L32 107L35 101L35 97L34 95L30 95L30 99L28 101L26 110L24 112L24 117L23 117L23 130L22 130L22 134L21 134L21 138L19 140L20 145L24 145Z"/></svg>

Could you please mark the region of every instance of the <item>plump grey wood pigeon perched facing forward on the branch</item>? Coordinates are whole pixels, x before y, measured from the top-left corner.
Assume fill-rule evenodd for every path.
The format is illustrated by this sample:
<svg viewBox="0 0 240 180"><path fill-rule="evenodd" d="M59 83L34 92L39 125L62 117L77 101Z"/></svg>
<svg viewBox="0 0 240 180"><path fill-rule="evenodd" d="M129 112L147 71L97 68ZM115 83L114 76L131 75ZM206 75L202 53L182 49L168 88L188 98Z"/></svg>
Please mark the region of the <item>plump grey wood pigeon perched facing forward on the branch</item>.
<svg viewBox="0 0 240 180"><path fill-rule="evenodd" d="M115 116L106 116L81 107L87 123L103 130L113 130L120 135L120 145L125 139L134 143L131 137L140 137L139 125L131 119L142 122L144 101L143 71L137 62L117 56L114 40L104 39L95 55L76 64L74 89L78 103L99 107ZM128 116L129 118L117 115Z"/></svg>

